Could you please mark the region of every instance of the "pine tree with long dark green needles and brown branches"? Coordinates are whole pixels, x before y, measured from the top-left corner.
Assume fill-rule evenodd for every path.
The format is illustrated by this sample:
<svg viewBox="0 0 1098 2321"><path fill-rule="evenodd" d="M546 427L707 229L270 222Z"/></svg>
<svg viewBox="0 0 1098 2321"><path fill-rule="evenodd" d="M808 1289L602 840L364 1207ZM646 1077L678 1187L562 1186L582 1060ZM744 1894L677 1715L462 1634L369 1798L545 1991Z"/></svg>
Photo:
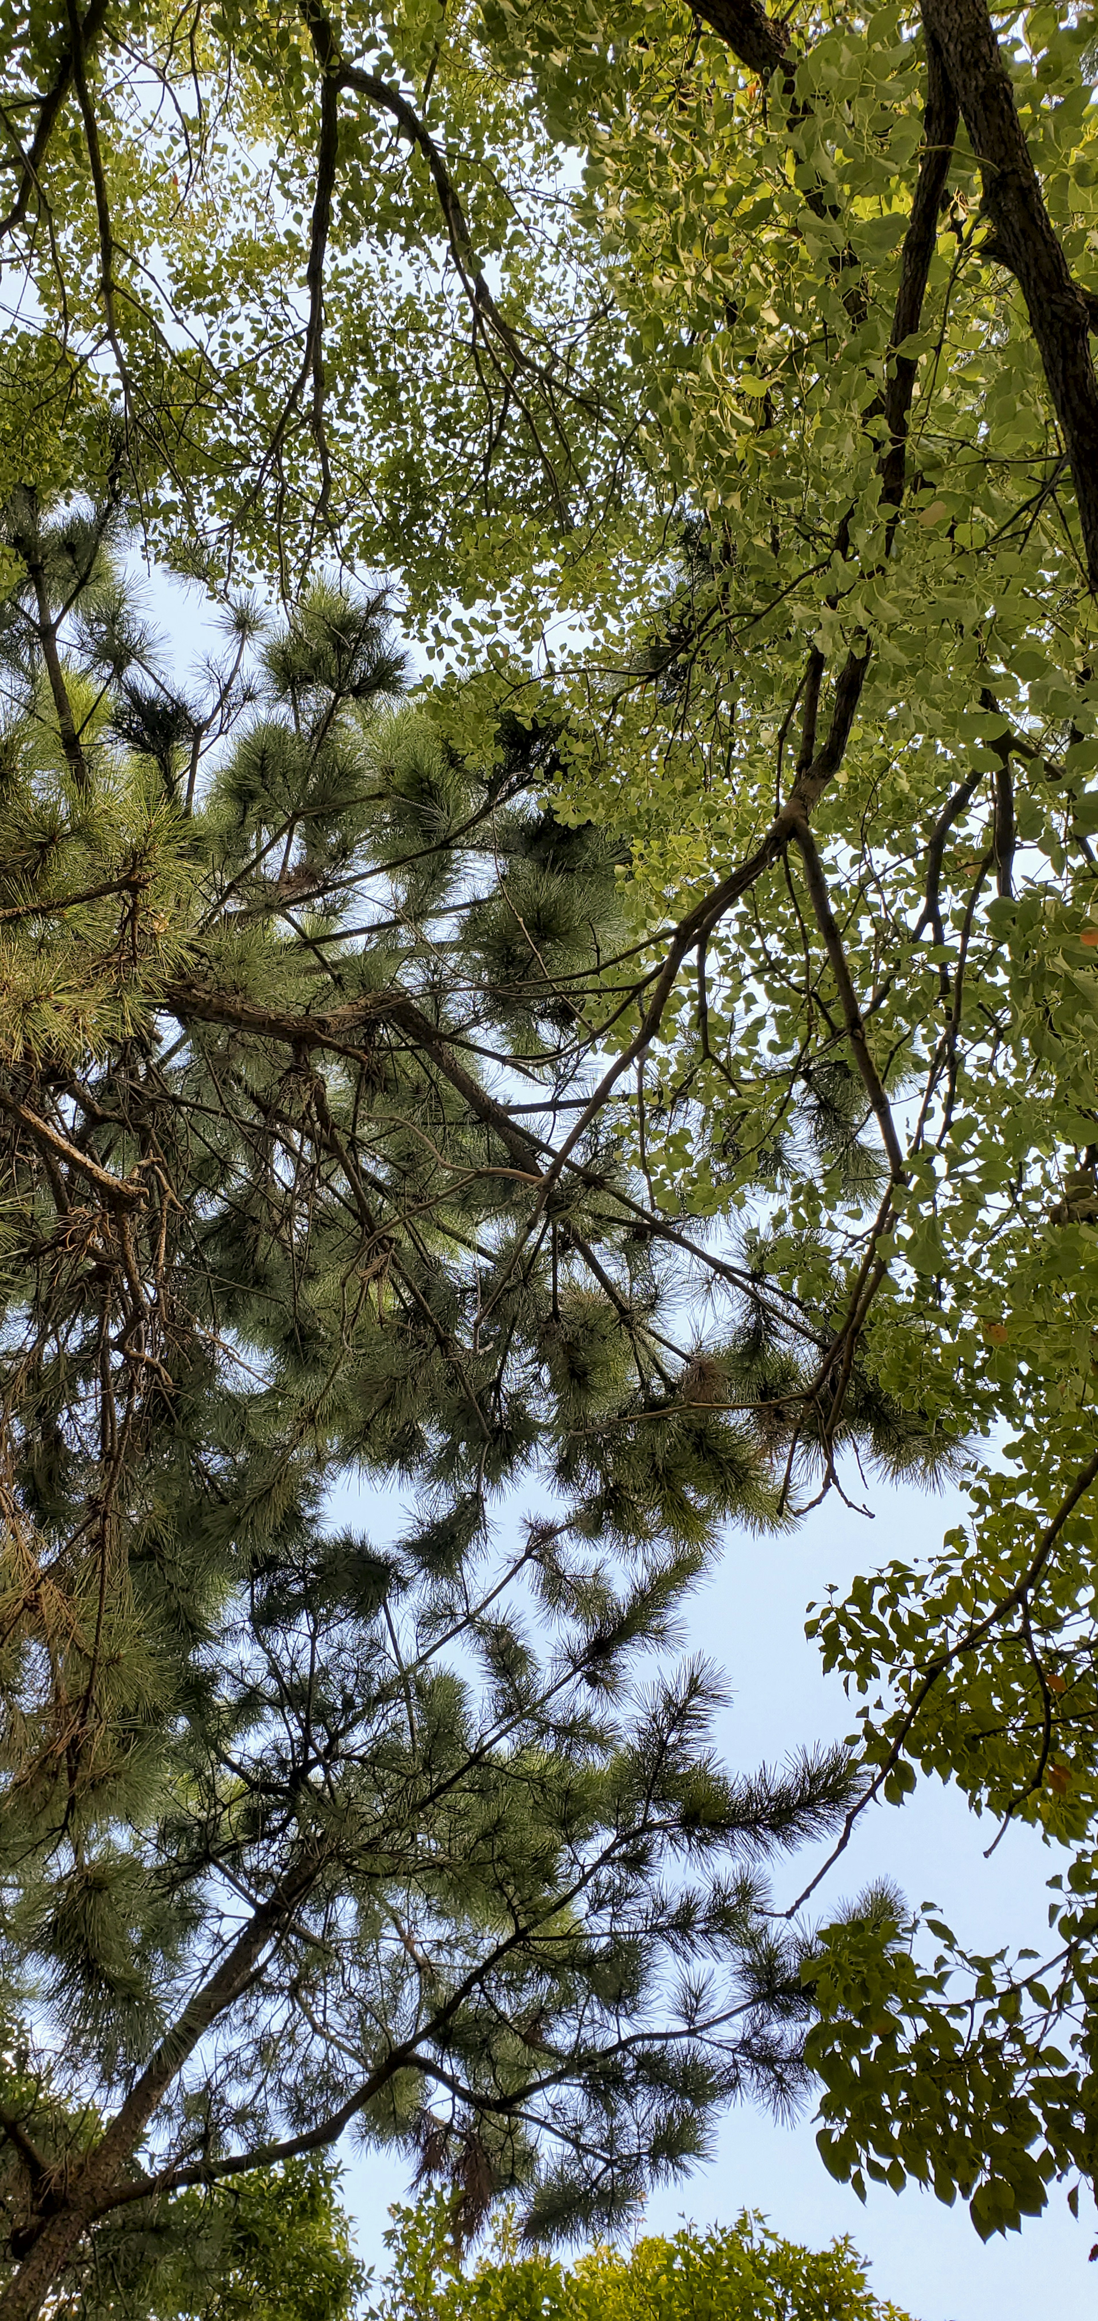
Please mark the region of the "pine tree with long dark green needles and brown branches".
<svg viewBox="0 0 1098 2321"><path fill-rule="evenodd" d="M348 2126L464 2228L617 2221L722 2101L796 2098L761 1873L852 1801L843 1752L724 1773L713 1671L652 1669L722 1525L831 1458L833 1314L592 1102L634 961L552 717L457 754L332 587L234 603L195 701L121 525L7 525L5 2316ZM850 1411L945 1453L871 1376Z"/></svg>

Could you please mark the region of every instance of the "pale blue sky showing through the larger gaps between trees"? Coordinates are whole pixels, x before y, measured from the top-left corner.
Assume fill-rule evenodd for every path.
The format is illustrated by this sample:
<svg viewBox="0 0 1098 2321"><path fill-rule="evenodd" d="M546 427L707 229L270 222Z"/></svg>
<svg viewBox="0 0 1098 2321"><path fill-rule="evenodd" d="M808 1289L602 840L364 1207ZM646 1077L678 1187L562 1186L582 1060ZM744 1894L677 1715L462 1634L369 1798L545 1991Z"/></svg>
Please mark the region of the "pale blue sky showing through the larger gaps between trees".
<svg viewBox="0 0 1098 2321"><path fill-rule="evenodd" d="M204 652L218 652L216 622L195 590L156 573L144 580L142 594L179 675ZM803 1634L806 1606L829 1583L843 1588L854 1571L894 1555L933 1553L961 1506L956 1495L929 1497L882 1485L871 1490L871 1504L873 1520L831 1497L794 1534L729 1537L724 1557L692 1599L687 1650L703 1650L731 1685L717 1729L731 1766L775 1764L799 1743L840 1738L852 1729L840 1678L822 1673L819 1653ZM378 1502L367 1485L339 1492L339 1520L374 1530L374 1537L402 1530L392 1497ZM1061 1868L1061 1857L1033 1831L1014 1827L984 1861L994 1834L956 1792L936 1780L919 1783L903 1806L864 1815L840 1868L819 1892L819 1906L829 1908L871 1878L887 1875L908 1901L936 1901L966 1947L1040 1947L1047 1938L1045 1880ZM787 1875L782 1901L806 1885L803 1852ZM406 2198L406 2170L353 2145L341 2159L360 2254L381 2270L388 2210ZM1098 2219L1084 2196L1075 2221L1066 2186L1052 2189L1045 2217L1028 2219L1021 2235L1010 2233L984 2247L961 2203L947 2210L917 2186L896 2196L871 2184L861 2205L850 2186L826 2175L810 2114L796 2126L780 2126L738 2107L720 2131L713 2161L685 2184L652 2196L645 2230L673 2233L680 2221L729 2224L743 2207L761 2210L778 2233L810 2247L850 2233L871 2261L877 2295L891 2298L912 2321L1028 2321L1031 2314L1096 2321L1098 2314L1098 2263L1089 2265Z"/></svg>

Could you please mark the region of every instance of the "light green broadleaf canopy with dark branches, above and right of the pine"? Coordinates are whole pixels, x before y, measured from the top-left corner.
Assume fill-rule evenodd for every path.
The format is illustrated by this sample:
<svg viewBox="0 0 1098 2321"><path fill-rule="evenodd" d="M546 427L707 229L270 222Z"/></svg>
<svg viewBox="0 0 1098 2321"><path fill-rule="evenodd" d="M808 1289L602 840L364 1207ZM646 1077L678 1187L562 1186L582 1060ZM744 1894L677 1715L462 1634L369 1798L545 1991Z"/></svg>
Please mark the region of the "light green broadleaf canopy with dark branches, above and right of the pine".
<svg viewBox="0 0 1098 2321"><path fill-rule="evenodd" d="M759 1353L775 1511L801 1453L854 1490L866 1397L931 1467L975 1439L966 1525L815 1625L882 1701L847 1810L936 1771L1038 1824L1049 1957L912 1952L877 1896L803 1989L829 2165L1017 2224L1096 2133L1093 23L93 0L5 30L12 504L132 494L225 596L399 576L450 652L432 731L467 761L552 726L557 819L622 873L629 970L562 1035L580 1137L669 1246L826 1316L815 1367L787 1323ZM79 778L95 682L65 733L63 599L9 555Z"/></svg>

